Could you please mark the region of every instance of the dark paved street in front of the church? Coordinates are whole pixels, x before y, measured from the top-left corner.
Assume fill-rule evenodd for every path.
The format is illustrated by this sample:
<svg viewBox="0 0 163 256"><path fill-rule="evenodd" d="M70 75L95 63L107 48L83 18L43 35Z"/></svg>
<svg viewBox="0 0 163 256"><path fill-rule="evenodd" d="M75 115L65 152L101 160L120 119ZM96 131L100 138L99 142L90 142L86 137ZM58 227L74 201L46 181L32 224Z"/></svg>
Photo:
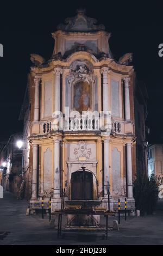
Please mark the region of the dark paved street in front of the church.
<svg viewBox="0 0 163 256"><path fill-rule="evenodd" d="M163 211L146 217L123 220L119 231L103 233L64 233L49 227L48 216L26 216L26 200L17 200L5 192L0 199L0 245L163 245ZM163 205L163 204L160 204ZM110 219L112 223L112 220Z"/></svg>

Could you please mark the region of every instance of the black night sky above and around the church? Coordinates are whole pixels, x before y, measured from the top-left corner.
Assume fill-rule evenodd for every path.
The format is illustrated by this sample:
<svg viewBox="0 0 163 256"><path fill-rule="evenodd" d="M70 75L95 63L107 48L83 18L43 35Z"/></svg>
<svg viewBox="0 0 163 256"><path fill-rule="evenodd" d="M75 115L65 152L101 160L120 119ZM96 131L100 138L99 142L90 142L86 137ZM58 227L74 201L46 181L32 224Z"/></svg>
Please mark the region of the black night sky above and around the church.
<svg viewBox="0 0 163 256"><path fill-rule="evenodd" d="M80 2L80 4L79 4ZM18 121L30 68L30 53L48 59L54 41L51 33L66 17L83 7L86 15L94 17L112 33L110 48L115 58L134 53L137 77L148 90L147 125L149 142L160 142L162 135L163 57L158 56L158 45L163 43L162 6L129 1L15 1L1 3L0 43L4 57L0 57L0 142L22 130ZM120 4L121 3L121 4Z"/></svg>

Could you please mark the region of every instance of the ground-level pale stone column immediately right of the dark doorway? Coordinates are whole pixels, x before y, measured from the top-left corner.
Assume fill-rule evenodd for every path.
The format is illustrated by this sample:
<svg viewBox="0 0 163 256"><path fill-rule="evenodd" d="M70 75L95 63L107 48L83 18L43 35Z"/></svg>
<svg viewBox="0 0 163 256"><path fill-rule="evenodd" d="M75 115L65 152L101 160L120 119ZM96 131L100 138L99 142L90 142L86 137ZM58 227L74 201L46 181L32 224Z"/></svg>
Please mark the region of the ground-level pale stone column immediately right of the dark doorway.
<svg viewBox="0 0 163 256"><path fill-rule="evenodd" d="M109 139L104 139L104 194L108 194L109 178Z"/></svg>

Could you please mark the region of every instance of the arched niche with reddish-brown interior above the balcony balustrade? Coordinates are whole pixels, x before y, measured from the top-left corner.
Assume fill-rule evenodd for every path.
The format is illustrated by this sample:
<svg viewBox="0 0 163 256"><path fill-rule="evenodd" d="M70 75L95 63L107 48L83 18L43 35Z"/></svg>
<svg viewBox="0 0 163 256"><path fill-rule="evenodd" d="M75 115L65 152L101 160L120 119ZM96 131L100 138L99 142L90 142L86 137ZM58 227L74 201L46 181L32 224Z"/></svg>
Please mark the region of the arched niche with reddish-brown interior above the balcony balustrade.
<svg viewBox="0 0 163 256"><path fill-rule="evenodd" d="M76 111L82 113L90 108L90 84L85 81L79 81L74 85L73 107Z"/></svg>

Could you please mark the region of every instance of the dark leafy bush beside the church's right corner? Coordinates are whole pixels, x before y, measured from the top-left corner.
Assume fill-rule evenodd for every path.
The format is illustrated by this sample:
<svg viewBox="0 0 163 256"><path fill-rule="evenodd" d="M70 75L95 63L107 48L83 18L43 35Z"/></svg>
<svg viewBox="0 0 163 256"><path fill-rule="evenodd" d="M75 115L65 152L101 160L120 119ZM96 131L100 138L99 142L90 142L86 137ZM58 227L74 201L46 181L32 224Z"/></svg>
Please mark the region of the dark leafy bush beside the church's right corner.
<svg viewBox="0 0 163 256"><path fill-rule="evenodd" d="M159 185L158 178L154 174L148 177L146 173L139 172L135 175L133 195L135 207L140 210L141 215L152 214L156 209Z"/></svg>

